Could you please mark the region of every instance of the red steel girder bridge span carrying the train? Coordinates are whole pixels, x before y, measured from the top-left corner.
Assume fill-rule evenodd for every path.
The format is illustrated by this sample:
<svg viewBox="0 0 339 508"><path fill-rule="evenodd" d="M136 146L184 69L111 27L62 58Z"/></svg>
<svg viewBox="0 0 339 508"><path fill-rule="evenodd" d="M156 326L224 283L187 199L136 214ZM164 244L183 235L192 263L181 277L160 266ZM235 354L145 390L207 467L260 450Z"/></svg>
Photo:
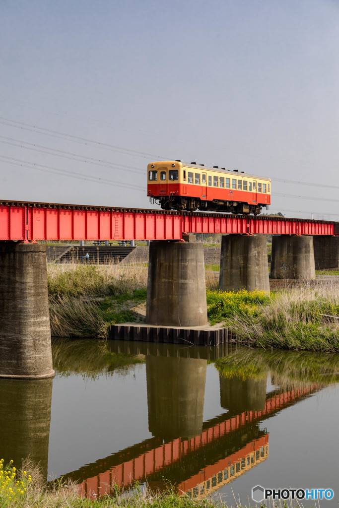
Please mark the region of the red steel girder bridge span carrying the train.
<svg viewBox="0 0 339 508"><path fill-rule="evenodd" d="M339 235L339 223L286 217L0 201L0 240L180 240L183 233Z"/></svg>

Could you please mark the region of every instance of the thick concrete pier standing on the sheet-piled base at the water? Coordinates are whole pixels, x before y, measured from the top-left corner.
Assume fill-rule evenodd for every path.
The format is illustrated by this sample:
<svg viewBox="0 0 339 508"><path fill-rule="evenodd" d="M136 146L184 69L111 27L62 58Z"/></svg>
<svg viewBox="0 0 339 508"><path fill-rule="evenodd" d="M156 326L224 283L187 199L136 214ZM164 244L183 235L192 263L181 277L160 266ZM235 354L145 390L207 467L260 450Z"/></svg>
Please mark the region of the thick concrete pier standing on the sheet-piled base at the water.
<svg viewBox="0 0 339 508"><path fill-rule="evenodd" d="M146 323L172 327L207 324L202 243L151 242Z"/></svg>

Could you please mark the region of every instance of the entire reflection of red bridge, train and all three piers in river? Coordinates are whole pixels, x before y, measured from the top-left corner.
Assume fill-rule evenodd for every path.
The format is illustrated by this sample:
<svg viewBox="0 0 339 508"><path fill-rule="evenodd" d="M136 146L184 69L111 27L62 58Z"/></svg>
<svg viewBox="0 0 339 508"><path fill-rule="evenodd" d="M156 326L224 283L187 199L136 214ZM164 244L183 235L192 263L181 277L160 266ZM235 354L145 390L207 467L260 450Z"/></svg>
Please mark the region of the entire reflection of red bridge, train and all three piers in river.
<svg viewBox="0 0 339 508"><path fill-rule="evenodd" d="M115 351L120 345L110 347ZM226 351L171 344L123 347L130 350L119 352L145 355L148 428L153 437L64 475L79 482L89 497L108 492L114 483L131 488L135 480L163 488L162 478L195 496L218 489L268 457L268 434L261 422L320 388L301 383L295 390L266 394L265 374L246 379L221 376L221 406L227 412L203 422L207 360ZM278 378L275 382L279 385ZM46 478L52 381L1 383L2 456L19 465L30 454L40 461Z"/></svg>

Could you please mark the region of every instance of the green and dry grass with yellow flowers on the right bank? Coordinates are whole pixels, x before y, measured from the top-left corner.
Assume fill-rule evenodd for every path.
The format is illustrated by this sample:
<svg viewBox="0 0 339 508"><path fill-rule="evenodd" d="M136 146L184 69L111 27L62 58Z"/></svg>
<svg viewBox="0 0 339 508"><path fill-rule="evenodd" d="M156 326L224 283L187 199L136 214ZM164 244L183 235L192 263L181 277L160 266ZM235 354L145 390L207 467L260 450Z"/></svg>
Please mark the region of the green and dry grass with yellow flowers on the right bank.
<svg viewBox="0 0 339 508"><path fill-rule="evenodd" d="M208 316L225 322L242 344L339 353L339 291L323 284L284 290L208 294Z"/></svg>

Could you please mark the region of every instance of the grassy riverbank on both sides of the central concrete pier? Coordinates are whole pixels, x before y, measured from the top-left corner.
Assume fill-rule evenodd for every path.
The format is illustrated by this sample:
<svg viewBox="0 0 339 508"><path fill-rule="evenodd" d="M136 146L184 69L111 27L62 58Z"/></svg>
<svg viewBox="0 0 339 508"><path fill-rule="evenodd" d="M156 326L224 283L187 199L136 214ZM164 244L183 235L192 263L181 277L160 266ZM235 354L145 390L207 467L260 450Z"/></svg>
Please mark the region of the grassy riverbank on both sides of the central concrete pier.
<svg viewBox="0 0 339 508"><path fill-rule="evenodd" d="M51 332L56 337L106 338L112 324L141 319L147 267L49 265ZM339 352L339 284L324 280L270 295L221 292L206 271L208 319L233 330L237 341L262 348Z"/></svg>

